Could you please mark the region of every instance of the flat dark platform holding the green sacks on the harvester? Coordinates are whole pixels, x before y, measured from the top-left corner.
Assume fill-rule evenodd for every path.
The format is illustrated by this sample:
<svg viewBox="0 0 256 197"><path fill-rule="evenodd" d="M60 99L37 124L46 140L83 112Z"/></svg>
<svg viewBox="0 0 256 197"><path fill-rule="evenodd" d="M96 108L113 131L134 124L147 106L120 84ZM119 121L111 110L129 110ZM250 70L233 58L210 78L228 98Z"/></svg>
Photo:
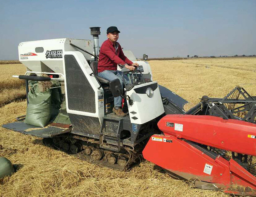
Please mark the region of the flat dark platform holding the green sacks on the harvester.
<svg viewBox="0 0 256 197"><path fill-rule="evenodd" d="M53 126L55 125L55 126ZM52 138L54 136L61 135L63 133L71 132L69 129L70 125L67 124L49 124L46 127L36 127L32 125L26 124L24 121L18 121L8 124L3 124L2 127L6 129L10 129L16 132L23 133L25 135L35 136L39 138ZM62 128L63 127L63 128Z"/></svg>

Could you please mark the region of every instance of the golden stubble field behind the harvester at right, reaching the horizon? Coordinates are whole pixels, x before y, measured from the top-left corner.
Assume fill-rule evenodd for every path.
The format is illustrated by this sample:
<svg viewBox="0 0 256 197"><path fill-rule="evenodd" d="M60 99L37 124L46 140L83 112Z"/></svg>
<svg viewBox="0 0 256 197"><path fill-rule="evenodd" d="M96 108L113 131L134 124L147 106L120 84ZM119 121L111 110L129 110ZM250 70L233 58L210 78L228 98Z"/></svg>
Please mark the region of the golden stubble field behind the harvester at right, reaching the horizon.
<svg viewBox="0 0 256 197"><path fill-rule="evenodd" d="M203 95L224 97L238 84L256 83L256 58L149 61L154 80L195 104ZM243 85L256 95L254 85Z"/></svg>

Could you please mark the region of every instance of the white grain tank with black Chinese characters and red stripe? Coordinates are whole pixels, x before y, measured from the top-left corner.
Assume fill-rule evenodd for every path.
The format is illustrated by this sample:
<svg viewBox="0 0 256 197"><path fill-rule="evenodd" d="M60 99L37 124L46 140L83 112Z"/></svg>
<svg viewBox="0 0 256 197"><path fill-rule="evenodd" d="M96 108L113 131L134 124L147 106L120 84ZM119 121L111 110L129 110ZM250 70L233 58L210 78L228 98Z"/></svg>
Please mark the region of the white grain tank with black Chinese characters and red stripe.
<svg viewBox="0 0 256 197"><path fill-rule="evenodd" d="M65 51L80 51L86 59L92 58L91 55L71 46L70 42L90 53L94 51L91 40L60 38L20 42L19 61L32 71L49 72L51 69L63 74L62 59ZM38 48L42 51L37 51Z"/></svg>

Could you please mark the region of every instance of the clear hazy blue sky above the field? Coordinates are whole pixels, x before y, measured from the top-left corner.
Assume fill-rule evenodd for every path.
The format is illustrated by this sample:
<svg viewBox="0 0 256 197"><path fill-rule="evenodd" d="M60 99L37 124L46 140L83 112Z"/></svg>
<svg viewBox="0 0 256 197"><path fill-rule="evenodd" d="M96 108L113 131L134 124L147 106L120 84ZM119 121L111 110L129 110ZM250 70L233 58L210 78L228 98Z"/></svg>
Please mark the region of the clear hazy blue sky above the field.
<svg viewBox="0 0 256 197"><path fill-rule="evenodd" d="M117 26L137 58L256 54L255 0L1 0L0 59L23 41L92 39L89 27Z"/></svg>

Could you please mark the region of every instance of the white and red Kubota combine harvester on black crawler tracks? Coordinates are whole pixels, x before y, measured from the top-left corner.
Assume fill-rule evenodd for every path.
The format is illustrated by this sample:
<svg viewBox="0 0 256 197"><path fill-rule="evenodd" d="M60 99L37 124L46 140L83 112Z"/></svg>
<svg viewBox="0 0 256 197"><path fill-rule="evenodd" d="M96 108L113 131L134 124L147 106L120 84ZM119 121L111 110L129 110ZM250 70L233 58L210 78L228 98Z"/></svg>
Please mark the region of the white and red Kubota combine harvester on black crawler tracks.
<svg viewBox="0 0 256 197"><path fill-rule="evenodd" d="M256 97L236 87L223 99L203 96L185 112L186 100L153 81L146 55L137 61L130 51L140 66L118 68L131 79L122 89L118 79L97 76L100 28L90 29L94 44L69 38L19 44L27 72L14 77L26 82L27 114L2 127L119 170L143 153L195 187L256 196ZM119 95L128 113L123 118L112 112Z"/></svg>

